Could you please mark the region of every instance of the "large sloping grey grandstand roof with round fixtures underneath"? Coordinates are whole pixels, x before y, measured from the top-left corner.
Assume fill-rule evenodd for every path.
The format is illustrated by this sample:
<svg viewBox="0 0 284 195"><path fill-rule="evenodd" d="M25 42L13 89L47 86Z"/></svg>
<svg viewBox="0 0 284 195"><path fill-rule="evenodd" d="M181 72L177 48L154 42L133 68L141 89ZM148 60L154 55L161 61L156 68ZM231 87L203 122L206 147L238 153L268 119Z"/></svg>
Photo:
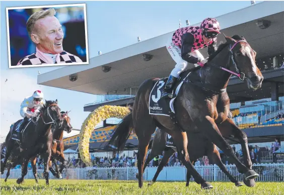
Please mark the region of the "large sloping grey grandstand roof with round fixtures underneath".
<svg viewBox="0 0 284 195"><path fill-rule="evenodd" d="M258 3L216 18L222 24L221 32L229 36L243 35L259 57L283 53L283 14L284 2L273 1ZM259 19L269 20L271 26L261 30L256 25ZM133 88L137 88L145 79L168 76L172 70L174 61L165 48L172 33L96 56L89 60L89 65L69 65L39 74L38 84L92 94L129 94L131 87L132 94L135 94ZM218 41L225 39L219 36ZM206 49L200 52L207 55ZM153 55L153 59L144 61L142 54L145 53ZM103 65L112 69L102 72ZM69 81L71 74L77 74L78 79ZM233 78L229 85L236 85L236 90L239 90L238 83L240 81Z"/></svg>

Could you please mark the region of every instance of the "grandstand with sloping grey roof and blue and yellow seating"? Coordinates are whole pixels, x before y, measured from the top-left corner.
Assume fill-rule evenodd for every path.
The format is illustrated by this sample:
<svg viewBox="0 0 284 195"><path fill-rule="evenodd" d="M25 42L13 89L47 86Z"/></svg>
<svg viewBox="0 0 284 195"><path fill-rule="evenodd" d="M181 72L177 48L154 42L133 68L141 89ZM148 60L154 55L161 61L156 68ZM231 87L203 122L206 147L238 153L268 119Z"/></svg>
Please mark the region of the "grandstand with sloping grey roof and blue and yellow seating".
<svg viewBox="0 0 284 195"><path fill-rule="evenodd" d="M230 79L227 87L234 122L247 134L250 144L270 145L275 138L281 141L284 139L283 15L284 2L275 1L258 3L216 17L222 24L222 33L229 36L238 34L246 38L257 52L256 63L264 76L263 85L259 90L248 90L246 83L235 76ZM270 22L268 28L263 29L256 25L263 20ZM90 59L88 66L66 66L40 74L38 84L91 94L128 95L117 100L85 105L86 112L92 112L103 105L133 104L133 94L144 80L149 77L168 76L172 70L174 61L165 49L165 43L172 33L96 56ZM220 41L225 41L223 36L219 36L218 44ZM204 57L207 56L206 49L201 49L200 52ZM145 60L144 54L151 56L151 59ZM103 72L103 66L113 67L115 70ZM76 75L78 79L70 81L70 75ZM100 148L101 143L107 138L105 134L111 133L113 128L114 126L104 126L94 130L90 139L90 152ZM135 145L136 138L134 135L132 138L131 143ZM76 145L78 141L78 136L64 139L68 146ZM228 141L231 144L237 143L234 140Z"/></svg>

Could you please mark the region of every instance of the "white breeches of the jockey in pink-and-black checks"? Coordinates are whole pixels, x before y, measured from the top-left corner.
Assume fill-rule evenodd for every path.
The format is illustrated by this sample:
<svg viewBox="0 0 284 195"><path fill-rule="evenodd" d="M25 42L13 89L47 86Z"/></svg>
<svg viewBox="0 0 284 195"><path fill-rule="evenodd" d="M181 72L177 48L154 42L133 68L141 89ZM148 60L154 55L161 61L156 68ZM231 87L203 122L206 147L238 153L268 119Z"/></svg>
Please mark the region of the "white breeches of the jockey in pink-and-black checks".
<svg viewBox="0 0 284 195"><path fill-rule="evenodd" d="M173 60L176 62L176 65L175 65L174 69L172 70L171 75L178 78L179 74L186 69L187 61L185 61L181 58L181 49L180 49L179 46L177 46L173 43L172 37L168 41L166 47L167 47L167 50L170 53L171 57L173 58ZM199 57L199 58L201 58L201 60L204 60L204 57L202 56L202 54L198 50L195 50L195 51L191 52L190 54L194 57ZM195 67L197 66L197 64L194 64L194 65L195 65ZM193 67L190 67L190 68L193 68Z"/></svg>

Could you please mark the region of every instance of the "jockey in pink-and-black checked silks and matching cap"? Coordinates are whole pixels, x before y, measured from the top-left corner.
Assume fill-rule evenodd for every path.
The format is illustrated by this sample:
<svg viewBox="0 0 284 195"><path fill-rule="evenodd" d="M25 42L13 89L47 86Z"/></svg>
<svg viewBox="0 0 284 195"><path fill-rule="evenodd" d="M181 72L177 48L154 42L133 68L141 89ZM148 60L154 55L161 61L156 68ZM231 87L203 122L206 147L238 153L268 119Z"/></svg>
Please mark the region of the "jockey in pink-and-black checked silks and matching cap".
<svg viewBox="0 0 284 195"><path fill-rule="evenodd" d="M174 32L167 44L167 50L176 65L168 78L162 97L171 97L173 86L179 74L187 67L187 63L202 67L207 62L198 49L208 47L208 55L214 53L217 50L218 34L220 25L215 18L204 19L200 27L185 27Z"/></svg>

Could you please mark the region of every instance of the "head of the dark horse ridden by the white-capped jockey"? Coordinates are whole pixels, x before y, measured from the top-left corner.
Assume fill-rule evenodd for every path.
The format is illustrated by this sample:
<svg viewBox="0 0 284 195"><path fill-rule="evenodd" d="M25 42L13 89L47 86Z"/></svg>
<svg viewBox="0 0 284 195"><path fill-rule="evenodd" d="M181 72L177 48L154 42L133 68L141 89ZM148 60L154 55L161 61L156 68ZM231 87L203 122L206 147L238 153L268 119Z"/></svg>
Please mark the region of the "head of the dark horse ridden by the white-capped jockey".
<svg viewBox="0 0 284 195"><path fill-rule="evenodd" d="M54 128L62 127L63 118L60 113L60 108L58 106L58 101L46 101L42 108L42 117L45 124L53 123Z"/></svg>

